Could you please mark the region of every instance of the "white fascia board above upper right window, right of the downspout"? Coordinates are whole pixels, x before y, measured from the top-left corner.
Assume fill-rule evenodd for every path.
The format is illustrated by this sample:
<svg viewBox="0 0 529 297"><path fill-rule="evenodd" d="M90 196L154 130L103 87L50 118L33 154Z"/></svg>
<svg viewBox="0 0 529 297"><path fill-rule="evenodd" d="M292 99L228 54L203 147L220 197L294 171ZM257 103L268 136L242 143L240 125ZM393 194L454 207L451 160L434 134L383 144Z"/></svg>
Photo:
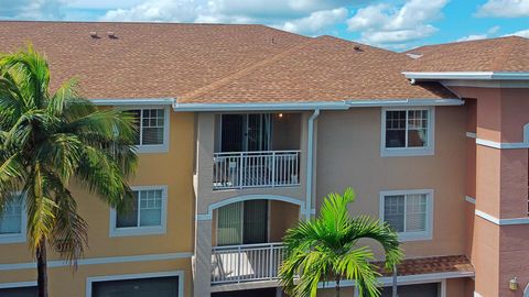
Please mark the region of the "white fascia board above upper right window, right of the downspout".
<svg viewBox="0 0 529 297"><path fill-rule="evenodd" d="M429 106L463 106L461 99L373 99L373 100L347 100L348 107L429 107Z"/></svg>

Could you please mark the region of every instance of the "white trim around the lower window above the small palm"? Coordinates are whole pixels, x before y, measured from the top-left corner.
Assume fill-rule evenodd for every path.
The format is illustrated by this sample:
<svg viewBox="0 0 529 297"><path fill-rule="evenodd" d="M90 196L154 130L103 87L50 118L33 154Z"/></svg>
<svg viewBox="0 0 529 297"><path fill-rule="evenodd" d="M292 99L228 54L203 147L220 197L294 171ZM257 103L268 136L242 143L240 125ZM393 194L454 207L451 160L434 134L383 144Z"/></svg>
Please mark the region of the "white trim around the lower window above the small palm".
<svg viewBox="0 0 529 297"><path fill-rule="evenodd" d="M380 220L384 221L384 204L386 196L396 196L396 195L413 195L413 194L425 194L427 195L427 221L425 230L420 232L399 232L399 240L402 242L406 241L420 241L420 240L432 240L433 239L433 189L413 189L413 190L384 190L380 191L380 201L379 201L379 213ZM404 205L406 208L406 205ZM406 220L406 213L404 213Z"/></svg>

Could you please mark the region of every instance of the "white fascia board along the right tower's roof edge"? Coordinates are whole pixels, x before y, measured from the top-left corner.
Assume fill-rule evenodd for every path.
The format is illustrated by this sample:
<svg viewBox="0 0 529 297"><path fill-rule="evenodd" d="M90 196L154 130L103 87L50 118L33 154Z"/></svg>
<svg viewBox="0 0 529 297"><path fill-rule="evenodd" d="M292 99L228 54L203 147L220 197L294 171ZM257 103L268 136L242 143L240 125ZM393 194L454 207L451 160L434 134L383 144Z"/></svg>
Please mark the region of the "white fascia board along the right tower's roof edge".
<svg viewBox="0 0 529 297"><path fill-rule="evenodd" d="M506 72L439 72L439 73L402 73L408 79L473 79L473 80L529 80L529 73Z"/></svg>

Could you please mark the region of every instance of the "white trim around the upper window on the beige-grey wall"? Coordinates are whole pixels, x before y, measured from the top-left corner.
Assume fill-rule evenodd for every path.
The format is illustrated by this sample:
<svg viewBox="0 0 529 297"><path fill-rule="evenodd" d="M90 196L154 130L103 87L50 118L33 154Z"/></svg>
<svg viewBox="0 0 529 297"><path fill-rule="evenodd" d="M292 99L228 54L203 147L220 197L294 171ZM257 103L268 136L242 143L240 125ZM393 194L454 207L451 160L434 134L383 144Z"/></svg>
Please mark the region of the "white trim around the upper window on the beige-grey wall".
<svg viewBox="0 0 529 297"><path fill-rule="evenodd" d="M429 156L434 154L435 147L435 107L390 107L382 108L381 133L380 133L380 156ZM428 145L424 147L386 147L386 112L391 110L428 110ZM408 125L408 123L407 123Z"/></svg>

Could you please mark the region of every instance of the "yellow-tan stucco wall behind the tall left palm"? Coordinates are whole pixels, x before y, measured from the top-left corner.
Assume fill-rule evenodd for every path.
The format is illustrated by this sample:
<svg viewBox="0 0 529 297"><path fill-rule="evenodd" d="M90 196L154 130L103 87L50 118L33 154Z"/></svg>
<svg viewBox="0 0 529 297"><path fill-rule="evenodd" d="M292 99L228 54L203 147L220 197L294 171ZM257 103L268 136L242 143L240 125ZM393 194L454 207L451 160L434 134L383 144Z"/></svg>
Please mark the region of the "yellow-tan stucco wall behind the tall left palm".
<svg viewBox="0 0 529 297"><path fill-rule="evenodd" d="M168 216L165 234L109 237L110 208L98 197L73 186L79 213L88 223L88 245L85 258L114 257L166 253L193 253L194 195L193 170L193 113L170 112L170 145L168 153L139 155L137 176L131 186L168 186ZM58 257L50 253L48 260ZM33 257L25 243L0 244L0 263L28 263ZM191 260L159 261L149 263L123 263L111 265L79 266L77 273L68 268L51 268L51 296L84 296L73 294L84 290L87 276L130 274L142 272L185 271L186 296L191 287ZM35 279L33 270L0 272L0 283L26 282ZM62 284L61 286L57 284ZM64 285L68 284L68 285ZM66 294L68 292L68 294ZM71 294L72 293L72 294Z"/></svg>

